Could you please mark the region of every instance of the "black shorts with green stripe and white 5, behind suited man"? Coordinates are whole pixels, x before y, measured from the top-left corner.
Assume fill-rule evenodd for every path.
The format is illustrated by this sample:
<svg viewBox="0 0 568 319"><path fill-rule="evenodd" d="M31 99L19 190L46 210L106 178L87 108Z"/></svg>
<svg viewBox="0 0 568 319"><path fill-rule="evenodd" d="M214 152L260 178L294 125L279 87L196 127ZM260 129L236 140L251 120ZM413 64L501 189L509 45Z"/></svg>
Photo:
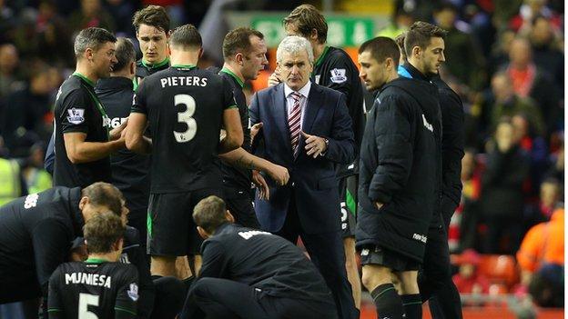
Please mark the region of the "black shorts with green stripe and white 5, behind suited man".
<svg viewBox="0 0 568 319"><path fill-rule="evenodd" d="M343 238L355 236L358 185L359 175L340 178L341 235Z"/></svg>

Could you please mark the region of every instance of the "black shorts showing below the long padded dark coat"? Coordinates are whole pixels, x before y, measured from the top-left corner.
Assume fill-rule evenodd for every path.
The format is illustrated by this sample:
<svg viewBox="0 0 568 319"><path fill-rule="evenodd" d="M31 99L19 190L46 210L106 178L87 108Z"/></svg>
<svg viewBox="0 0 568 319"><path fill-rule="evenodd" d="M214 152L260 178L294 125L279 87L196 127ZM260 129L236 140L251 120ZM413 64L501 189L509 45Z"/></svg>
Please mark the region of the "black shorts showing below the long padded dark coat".
<svg viewBox="0 0 568 319"><path fill-rule="evenodd" d="M361 264L379 264L393 272L408 272L420 267L418 261L374 244L364 245L360 256Z"/></svg>

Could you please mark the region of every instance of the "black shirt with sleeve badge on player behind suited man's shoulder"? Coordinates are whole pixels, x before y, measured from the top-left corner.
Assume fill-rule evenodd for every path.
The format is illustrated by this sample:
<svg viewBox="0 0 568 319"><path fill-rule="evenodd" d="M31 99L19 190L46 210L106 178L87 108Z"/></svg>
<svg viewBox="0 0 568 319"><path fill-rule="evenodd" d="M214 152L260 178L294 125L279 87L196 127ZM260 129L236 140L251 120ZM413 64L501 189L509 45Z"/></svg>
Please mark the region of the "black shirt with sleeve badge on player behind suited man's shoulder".
<svg viewBox="0 0 568 319"><path fill-rule="evenodd" d="M311 77L316 84L327 86L345 95L355 142L359 149L365 131L365 115L363 112L363 86L357 66L345 51L337 47L326 46L314 65ZM356 154L359 154L359 152L356 152ZM356 159L354 165L340 167L338 176L357 174L358 162L359 160Z"/></svg>

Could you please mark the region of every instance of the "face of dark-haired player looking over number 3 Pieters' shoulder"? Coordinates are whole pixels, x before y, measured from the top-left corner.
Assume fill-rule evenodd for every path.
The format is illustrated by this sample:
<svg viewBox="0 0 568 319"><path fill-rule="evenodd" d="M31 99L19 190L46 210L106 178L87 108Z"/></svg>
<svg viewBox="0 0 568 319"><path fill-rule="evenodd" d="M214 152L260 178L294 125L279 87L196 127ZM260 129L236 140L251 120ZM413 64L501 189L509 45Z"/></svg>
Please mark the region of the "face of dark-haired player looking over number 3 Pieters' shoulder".
<svg viewBox="0 0 568 319"><path fill-rule="evenodd" d="M167 58L167 35L162 29L152 25L140 25L137 39L142 58L149 64L157 64Z"/></svg>

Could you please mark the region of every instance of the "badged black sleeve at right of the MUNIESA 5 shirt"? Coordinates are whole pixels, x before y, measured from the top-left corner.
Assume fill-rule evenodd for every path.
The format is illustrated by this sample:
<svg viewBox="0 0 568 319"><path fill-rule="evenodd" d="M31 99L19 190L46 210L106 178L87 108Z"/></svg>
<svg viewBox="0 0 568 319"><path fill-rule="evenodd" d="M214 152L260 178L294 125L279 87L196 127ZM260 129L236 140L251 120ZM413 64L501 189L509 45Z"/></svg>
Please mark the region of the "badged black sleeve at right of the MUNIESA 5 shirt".
<svg viewBox="0 0 568 319"><path fill-rule="evenodd" d="M130 264L118 283L117 300L115 301L115 319L137 317L138 274L136 267Z"/></svg>

